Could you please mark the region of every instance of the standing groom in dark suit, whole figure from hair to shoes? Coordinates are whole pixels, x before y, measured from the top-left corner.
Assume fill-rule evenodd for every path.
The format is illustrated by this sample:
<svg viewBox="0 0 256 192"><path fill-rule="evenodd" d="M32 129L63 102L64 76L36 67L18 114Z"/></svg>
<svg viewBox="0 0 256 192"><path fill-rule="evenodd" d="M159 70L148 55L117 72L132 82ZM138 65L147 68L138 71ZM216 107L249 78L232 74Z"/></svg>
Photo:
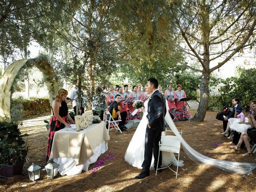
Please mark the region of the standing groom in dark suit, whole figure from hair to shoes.
<svg viewBox="0 0 256 192"><path fill-rule="evenodd" d="M145 135L144 162L142 163L142 171L137 175L136 179L149 176L152 154L154 154L154 168L156 170L159 141L161 140L162 131L164 131L164 116L166 114L164 96L158 91L158 80L156 78L148 79L148 91L152 94L148 101L148 124ZM160 153L159 167L162 164L162 154Z"/></svg>

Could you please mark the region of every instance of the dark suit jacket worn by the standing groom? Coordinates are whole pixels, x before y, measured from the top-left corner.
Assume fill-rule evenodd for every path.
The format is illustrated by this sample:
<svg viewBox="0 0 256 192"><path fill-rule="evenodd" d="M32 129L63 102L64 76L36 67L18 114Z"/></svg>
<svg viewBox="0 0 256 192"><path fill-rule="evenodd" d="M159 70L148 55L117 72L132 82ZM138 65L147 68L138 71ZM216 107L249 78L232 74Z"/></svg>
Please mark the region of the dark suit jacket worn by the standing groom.
<svg viewBox="0 0 256 192"><path fill-rule="evenodd" d="M153 130L164 131L164 116L166 114L164 96L156 90L148 101L148 124Z"/></svg>

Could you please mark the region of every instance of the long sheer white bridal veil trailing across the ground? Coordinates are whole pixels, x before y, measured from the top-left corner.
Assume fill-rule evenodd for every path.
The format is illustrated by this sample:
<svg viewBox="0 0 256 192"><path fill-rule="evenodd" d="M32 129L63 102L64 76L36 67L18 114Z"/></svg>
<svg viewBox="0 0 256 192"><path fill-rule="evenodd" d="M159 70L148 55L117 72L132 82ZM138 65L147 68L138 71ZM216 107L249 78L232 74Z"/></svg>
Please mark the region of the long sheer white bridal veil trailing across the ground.
<svg viewBox="0 0 256 192"><path fill-rule="evenodd" d="M252 170L256 167L255 163L245 163L245 162L232 162L232 161L226 161L226 160L218 160L214 158L210 158L207 156L204 156L194 150L192 147L188 145L188 143L182 138L180 133L178 132L174 122L172 121L172 118L169 113L166 113L165 120L170 126L171 130L174 132L174 134L178 137L178 139L181 141L183 149L185 153L188 155L188 157L193 160L196 163L204 163L207 165L213 165L217 168L220 168L222 170L228 171L228 172L237 172L240 174L252 174Z"/></svg>

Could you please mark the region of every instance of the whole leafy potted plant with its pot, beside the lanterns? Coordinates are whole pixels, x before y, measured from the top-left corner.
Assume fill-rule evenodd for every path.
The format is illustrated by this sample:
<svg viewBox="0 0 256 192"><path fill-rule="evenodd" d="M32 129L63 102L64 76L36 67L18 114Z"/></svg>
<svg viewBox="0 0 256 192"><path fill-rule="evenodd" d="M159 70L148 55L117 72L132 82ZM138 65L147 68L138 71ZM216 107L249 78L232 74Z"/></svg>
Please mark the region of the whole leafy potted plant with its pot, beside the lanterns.
<svg viewBox="0 0 256 192"><path fill-rule="evenodd" d="M0 176L11 177L21 174L26 155L27 142L21 135L18 125L13 122L0 122Z"/></svg>

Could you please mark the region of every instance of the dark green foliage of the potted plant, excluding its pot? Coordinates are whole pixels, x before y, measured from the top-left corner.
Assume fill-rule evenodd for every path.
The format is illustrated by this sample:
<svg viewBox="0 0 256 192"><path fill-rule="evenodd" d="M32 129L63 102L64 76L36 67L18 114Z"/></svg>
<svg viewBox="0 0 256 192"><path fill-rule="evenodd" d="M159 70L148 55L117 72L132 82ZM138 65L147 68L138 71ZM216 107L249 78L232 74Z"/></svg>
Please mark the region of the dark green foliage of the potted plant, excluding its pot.
<svg viewBox="0 0 256 192"><path fill-rule="evenodd" d="M25 162L28 154L27 142L21 135L18 125L13 122L0 122L0 165L16 165Z"/></svg>

